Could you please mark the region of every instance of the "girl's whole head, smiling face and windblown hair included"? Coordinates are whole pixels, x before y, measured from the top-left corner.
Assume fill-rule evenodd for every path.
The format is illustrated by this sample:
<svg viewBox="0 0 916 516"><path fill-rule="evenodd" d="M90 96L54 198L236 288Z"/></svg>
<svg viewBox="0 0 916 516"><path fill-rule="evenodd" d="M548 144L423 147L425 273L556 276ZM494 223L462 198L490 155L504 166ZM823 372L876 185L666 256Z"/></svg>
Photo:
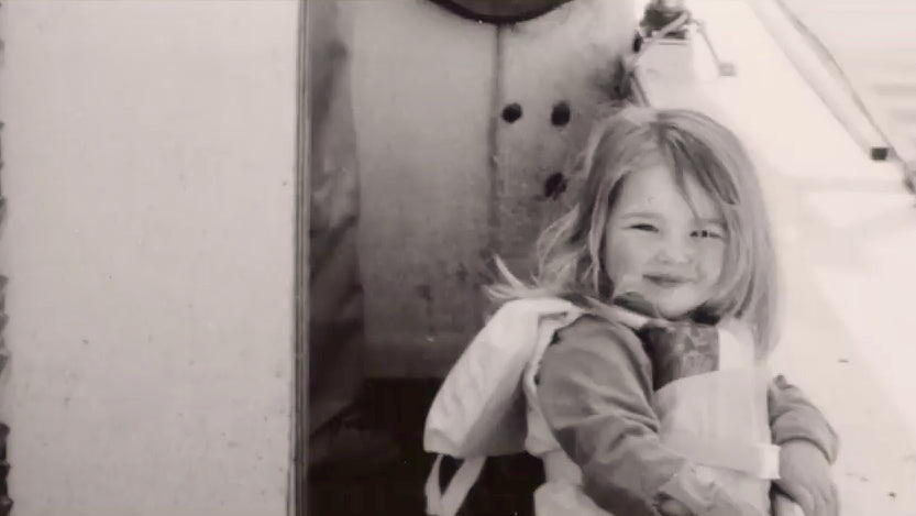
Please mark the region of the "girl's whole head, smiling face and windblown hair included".
<svg viewBox="0 0 916 516"><path fill-rule="evenodd" d="M595 127L574 165L584 184L540 234L533 284L503 271L490 296L584 296L670 320L741 318L761 355L769 351L780 289L770 218L754 164L728 128L698 112L631 106Z"/></svg>

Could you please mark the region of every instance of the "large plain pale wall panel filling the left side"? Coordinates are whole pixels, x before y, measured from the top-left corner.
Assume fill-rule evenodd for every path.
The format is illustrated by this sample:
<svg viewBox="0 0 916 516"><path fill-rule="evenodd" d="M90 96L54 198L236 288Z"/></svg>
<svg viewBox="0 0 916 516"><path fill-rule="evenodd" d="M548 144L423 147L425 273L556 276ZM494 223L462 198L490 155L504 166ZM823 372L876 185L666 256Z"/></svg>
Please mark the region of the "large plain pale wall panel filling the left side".
<svg viewBox="0 0 916 516"><path fill-rule="evenodd" d="M3 1L16 516L286 513L295 1Z"/></svg>

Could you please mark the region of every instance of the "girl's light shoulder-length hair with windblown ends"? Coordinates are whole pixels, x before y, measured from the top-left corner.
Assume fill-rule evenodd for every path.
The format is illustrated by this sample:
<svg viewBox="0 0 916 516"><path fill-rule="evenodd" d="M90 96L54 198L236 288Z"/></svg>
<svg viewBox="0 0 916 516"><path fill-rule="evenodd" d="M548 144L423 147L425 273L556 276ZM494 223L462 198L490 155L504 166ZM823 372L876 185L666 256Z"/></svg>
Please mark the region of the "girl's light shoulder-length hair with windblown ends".
<svg viewBox="0 0 916 516"><path fill-rule="evenodd" d="M488 295L501 301L534 296L607 300L612 285L603 254L610 209L622 179L660 157L682 191L688 174L725 219L725 266L717 294L702 308L717 318L744 321L758 355L765 355L776 341L779 292L763 191L738 138L695 111L627 107L599 121L572 171L586 175L577 202L538 239L532 283L518 279L497 257L503 282L489 286Z"/></svg>

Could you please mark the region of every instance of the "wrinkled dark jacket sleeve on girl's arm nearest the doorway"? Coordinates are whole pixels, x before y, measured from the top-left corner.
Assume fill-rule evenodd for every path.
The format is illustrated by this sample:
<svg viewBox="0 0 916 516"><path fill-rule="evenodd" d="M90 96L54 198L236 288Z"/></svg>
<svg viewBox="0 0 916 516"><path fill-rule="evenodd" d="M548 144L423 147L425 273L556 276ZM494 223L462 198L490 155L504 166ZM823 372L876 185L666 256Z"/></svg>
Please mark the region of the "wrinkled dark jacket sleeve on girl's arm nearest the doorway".
<svg viewBox="0 0 916 516"><path fill-rule="evenodd" d="M554 340L541 363L538 398L598 506L655 516L663 501L675 498L697 516L754 514L659 440L652 369L634 333L586 316Z"/></svg>

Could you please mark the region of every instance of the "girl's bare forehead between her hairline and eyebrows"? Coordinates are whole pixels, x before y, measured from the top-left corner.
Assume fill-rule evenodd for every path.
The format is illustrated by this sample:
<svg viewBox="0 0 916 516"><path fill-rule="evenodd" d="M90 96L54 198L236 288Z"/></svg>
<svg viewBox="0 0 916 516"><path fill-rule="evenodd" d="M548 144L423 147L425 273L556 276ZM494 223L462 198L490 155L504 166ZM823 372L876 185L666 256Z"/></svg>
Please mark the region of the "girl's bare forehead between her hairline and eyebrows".
<svg viewBox="0 0 916 516"><path fill-rule="evenodd" d="M684 174L683 186L664 164L636 169L627 175L614 211L626 215L645 211L676 218L721 218L718 204L691 174Z"/></svg>

